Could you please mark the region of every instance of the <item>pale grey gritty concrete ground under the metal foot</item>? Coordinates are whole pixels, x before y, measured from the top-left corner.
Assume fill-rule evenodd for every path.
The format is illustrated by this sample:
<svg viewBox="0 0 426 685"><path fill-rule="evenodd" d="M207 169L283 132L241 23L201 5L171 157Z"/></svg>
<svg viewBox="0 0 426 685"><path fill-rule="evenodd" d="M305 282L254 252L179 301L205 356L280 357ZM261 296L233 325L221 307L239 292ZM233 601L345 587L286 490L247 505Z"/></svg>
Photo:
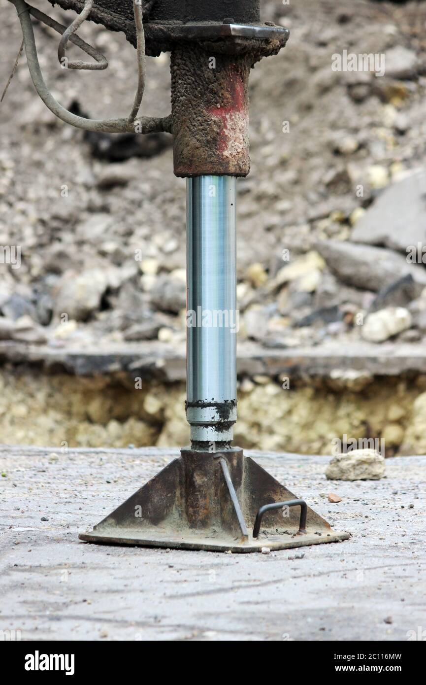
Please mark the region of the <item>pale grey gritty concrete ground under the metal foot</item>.
<svg viewBox="0 0 426 685"><path fill-rule="evenodd" d="M176 454L0 448L0 630L23 640L407 640L426 629L426 456L387 460L379 482L327 482L326 457L250 452L349 530L344 543L266 556L79 542ZM330 492L342 501L321 497Z"/></svg>

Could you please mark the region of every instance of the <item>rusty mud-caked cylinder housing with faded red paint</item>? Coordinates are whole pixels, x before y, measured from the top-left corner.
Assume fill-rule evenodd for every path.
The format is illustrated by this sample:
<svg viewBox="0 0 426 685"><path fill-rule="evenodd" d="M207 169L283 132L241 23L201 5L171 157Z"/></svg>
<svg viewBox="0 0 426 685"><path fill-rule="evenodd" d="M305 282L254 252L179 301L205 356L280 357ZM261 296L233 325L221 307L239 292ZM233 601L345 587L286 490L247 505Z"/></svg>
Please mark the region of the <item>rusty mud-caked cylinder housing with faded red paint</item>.
<svg viewBox="0 0 426 685"><path fill-rule="evenodd" d="M247 176L250 55L196 45L171 55L175 175Z"/></svg>

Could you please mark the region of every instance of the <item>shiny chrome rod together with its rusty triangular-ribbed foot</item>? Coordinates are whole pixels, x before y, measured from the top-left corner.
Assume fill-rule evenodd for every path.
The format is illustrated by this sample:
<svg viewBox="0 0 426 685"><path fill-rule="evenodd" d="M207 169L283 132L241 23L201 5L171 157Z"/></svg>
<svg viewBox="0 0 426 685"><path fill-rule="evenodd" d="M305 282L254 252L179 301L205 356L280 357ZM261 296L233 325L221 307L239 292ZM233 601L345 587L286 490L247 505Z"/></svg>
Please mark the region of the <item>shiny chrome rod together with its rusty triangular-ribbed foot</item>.
<svg viewBox="0 0 426 685"><path fill-rule="evenodd" d="M182 449L180 458L81 540L251 552L349 537L332 531L303 500L231 447L238 327L235 188L236 179L229 176L188 179L186 415L191 448Z"/></svg>

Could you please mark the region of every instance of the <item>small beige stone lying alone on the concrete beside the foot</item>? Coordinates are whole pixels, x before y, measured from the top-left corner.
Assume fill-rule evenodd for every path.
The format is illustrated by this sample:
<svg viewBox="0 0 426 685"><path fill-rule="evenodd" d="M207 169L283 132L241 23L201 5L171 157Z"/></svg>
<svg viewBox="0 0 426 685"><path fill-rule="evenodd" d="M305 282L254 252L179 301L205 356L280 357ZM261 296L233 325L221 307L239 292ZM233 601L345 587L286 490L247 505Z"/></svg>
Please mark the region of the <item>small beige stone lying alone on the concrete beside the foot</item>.
<svg viewBox="0 0 426 685"><path fill-rule="evenodd" d="M385 460L375 449L354 449L333 457L325 470L329 480L379 480L385 474Z"/></svg>

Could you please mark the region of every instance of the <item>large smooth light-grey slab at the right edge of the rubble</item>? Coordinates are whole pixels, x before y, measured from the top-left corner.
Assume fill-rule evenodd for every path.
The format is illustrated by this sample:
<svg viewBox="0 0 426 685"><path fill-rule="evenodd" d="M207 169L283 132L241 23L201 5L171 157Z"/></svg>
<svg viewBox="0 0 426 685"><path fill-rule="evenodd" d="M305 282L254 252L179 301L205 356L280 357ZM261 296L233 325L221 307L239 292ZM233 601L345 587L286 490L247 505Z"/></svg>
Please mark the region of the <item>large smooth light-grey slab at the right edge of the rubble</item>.
<svg viewBox="0 0 426 685"><path fill-rule="evenodd" d="M410 245L426 245L426 173L388 186L351 234L353 242L384 245L405 255Z"/></svg>

